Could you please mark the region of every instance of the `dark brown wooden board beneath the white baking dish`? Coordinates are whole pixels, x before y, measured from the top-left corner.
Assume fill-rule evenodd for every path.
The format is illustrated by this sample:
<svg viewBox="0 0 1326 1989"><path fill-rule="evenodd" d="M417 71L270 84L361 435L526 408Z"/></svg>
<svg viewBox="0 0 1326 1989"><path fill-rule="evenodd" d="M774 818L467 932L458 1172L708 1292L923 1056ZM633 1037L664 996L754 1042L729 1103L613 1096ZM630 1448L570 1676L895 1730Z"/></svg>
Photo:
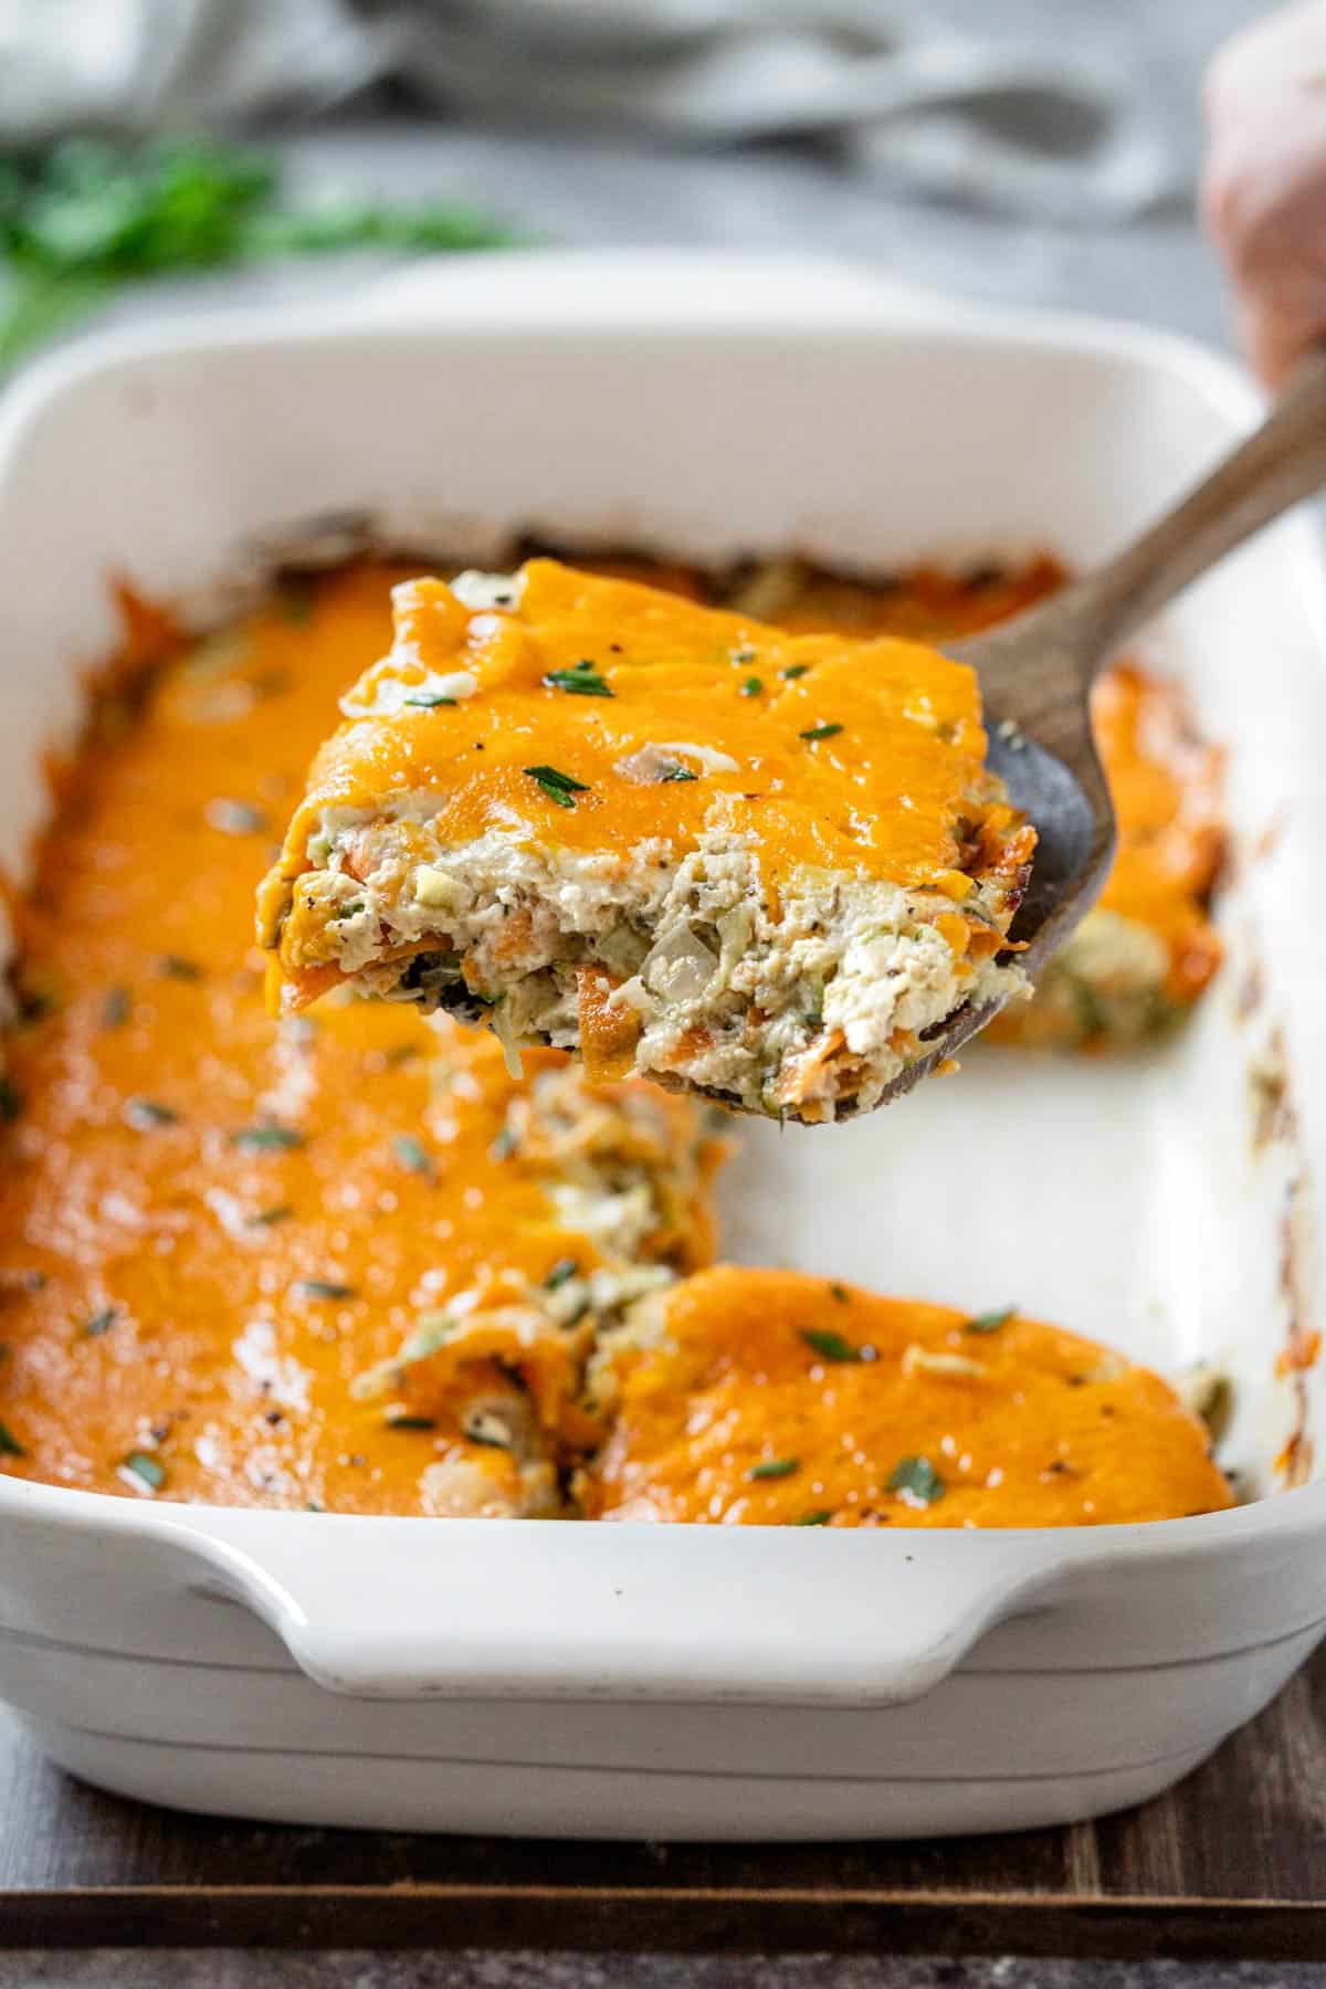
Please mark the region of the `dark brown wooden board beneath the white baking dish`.
<svg viewBox="0 0 1326 1989"><path fill-rule="evenodd" d="M1143 1810L948 1844L270 1828L101 1796L0 1724L0 1943L1326 1961L1326 1647Z"/></svg>

